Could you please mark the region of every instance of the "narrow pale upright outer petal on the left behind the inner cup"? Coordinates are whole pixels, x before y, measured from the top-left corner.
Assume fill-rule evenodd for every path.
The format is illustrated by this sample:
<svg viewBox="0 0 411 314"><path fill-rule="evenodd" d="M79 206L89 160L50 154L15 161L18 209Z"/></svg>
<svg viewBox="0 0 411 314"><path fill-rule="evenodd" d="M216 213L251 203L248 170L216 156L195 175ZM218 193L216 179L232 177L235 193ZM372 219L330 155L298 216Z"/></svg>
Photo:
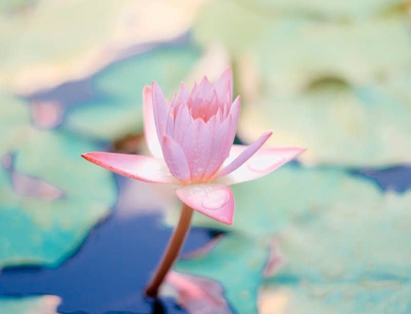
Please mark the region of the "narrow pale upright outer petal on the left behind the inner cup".
<svg viewBox="0 0 411 314"><path fill-rule="evenodd" d="M143 89L144 136L148 149L156 158L163 158L160 142L158 141L156 124L153 113L153 95L151 86Z"/></svg>

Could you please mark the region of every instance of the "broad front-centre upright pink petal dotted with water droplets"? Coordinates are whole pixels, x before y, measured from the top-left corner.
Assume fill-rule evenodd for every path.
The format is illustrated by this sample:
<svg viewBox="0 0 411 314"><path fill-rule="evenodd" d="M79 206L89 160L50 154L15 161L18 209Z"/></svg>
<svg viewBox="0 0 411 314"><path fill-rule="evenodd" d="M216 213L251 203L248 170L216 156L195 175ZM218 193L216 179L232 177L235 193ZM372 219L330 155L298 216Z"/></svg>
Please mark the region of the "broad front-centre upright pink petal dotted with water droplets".
<svg viewBox="0 0 411 314"><path fill-rule="evenodd" d="M208 125L196 119L185 130L183 150L189 163L192 181L197 181L206 171L211 156L212 141Z"/></svg>

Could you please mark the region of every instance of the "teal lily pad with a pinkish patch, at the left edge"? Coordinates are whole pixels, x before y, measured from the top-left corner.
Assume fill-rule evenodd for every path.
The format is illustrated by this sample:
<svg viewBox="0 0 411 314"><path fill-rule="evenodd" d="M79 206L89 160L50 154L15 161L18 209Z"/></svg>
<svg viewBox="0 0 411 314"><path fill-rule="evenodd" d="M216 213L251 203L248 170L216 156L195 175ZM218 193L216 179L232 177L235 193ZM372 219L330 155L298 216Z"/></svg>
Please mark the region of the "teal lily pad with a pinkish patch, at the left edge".
<svg viewBox="0 0 411 314"><path fill-rule="evenodd" d="M31 130L12 166L0 171L0 266L57 265L108 214L114 176L80 157L97 149L72 135Z"/></svg>

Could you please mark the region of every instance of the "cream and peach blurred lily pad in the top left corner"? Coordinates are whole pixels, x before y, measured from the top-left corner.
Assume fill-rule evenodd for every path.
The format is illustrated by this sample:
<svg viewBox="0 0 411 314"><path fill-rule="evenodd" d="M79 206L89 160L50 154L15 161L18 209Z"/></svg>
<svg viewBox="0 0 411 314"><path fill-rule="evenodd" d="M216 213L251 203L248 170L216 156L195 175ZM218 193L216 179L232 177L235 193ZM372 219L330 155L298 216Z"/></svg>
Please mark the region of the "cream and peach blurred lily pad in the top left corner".
<svg viewBox="0 0 411 314"><path fill-rule="evenodd" d="M152 0L2 2L0 82L13 92L29 94L88 76L124 53L138 51L138 45L182 35L199 4L187 0L173 4Z"/></svg>

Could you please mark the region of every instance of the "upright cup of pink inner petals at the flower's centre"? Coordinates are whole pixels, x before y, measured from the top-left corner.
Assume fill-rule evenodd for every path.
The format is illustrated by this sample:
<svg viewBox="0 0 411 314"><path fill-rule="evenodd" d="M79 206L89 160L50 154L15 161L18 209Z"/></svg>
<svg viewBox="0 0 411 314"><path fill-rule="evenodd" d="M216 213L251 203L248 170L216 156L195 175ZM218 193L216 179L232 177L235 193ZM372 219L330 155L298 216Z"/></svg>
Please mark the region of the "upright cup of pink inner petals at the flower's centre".
<svg viewBox="0 0 411 314"><path fill-rule="evenodd" d="M173 175L181 181L210 181L229 155L240 110L239 97L232 102L230 76L223 74L214 85L211 85L204 76L201 83L195 84L191 92L181 84L180 91L174 95L172 102L163 102L164 117L161 117L162 109L159 108L162 105L161 97L156 96L156 89L159 87L153 85L157 133L163 152L164 149L168 149L169 152L164 154L164 159ZM174 141L172 150L164 147L164 135ZM179 157L180 165L177 165L176 161L173 161L173 153L180 156L180 149L185 161ZM184 168L185 162L189 175L181 169Z"/></svg>

